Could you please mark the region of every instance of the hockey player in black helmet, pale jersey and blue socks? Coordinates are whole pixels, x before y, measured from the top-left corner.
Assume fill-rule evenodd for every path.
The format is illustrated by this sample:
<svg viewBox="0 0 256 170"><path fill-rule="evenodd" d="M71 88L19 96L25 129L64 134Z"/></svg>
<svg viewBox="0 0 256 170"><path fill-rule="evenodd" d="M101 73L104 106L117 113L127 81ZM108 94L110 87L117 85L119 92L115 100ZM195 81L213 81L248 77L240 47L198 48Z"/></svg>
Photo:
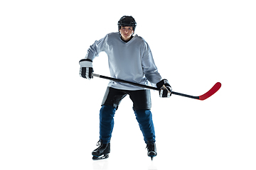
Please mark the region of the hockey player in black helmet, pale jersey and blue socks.
<svg viewBox="0 0 256 170"><path fill-rule="evenodd" d="M116 79L124 79L139 84L148 81L161 89L160 97L171 96L171 86L162 79L151 54L147 42L134 35L136 21L132 16L122 16L118 21L118 32L109 33L101 40L96 40L87 50L85 59L80 60L80 76L92 79L92 61L100 52L106 52L110 67L110 75ZM110 153L110 139L114 128L114 113L122 98L129 95L133 102L133 110L142 130L148 156L156 156L156 140L151 114L151 96L149 89L130 84L110 81L102 100L100 109L100 140L97 149L92 152L92 159L107 158ZM130 140L130 139L127 139Z"/></svg>

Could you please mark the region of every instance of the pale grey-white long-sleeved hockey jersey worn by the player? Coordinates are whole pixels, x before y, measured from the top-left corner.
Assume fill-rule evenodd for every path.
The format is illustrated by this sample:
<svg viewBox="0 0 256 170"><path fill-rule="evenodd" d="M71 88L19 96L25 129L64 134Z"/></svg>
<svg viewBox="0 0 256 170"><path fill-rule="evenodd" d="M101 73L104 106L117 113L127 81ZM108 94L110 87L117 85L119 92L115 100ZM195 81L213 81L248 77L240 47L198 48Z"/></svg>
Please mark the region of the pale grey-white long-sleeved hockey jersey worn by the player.
<svg viewBox="0 0 256 170"><path fill-rule="evenodd" d="M129 42L124 42L118 32L109 33L90 46L85 58L93 60L103 51L108 56L111 77L144 85L149 81L153 86L161 81L149 45L138 35L134 35ZM124 90L144 89L115 81L110 81L108 86Z"/></svg>

